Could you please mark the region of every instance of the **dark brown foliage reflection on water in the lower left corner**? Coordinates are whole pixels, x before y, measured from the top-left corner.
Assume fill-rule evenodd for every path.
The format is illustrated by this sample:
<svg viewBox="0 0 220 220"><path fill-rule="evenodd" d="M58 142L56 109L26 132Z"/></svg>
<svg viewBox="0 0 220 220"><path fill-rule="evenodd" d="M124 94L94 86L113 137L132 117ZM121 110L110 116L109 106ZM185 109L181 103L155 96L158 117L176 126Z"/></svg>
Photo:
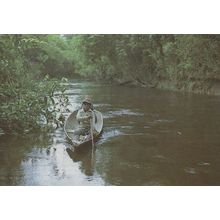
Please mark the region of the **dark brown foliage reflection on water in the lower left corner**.
<svg viewBox="0 0 220 220"><path fill-rule="evenodd" d="M19 185L24 178L20 168L22 161L33 149L33 145L48 146L51 137L47 134L25 136L3 135L0 137L0 185Z"/></svg>

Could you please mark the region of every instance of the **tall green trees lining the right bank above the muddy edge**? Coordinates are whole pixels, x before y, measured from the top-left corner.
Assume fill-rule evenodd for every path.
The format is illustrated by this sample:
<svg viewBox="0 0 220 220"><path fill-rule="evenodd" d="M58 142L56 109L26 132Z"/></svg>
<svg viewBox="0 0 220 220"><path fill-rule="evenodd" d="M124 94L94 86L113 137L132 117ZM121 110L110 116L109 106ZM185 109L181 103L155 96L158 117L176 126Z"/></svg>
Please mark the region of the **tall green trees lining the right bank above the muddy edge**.
<svg viewBox="0 0 220 220"><path fill-rule="evenodd" d="M68 36L77 72L146 83L220 79L219 35Z"/></svg>

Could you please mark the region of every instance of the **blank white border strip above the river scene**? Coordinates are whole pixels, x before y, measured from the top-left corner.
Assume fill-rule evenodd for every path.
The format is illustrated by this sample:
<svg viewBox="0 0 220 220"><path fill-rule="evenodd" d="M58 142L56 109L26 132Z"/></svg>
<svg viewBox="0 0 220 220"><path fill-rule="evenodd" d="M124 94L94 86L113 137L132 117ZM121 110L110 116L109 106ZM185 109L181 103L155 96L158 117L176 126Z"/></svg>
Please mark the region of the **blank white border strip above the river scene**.
<svg viewBox="0 0 220 220"><path fill-rule="evenodd" d="M0 33L217 34L217 0L1 0Z"/></svg>

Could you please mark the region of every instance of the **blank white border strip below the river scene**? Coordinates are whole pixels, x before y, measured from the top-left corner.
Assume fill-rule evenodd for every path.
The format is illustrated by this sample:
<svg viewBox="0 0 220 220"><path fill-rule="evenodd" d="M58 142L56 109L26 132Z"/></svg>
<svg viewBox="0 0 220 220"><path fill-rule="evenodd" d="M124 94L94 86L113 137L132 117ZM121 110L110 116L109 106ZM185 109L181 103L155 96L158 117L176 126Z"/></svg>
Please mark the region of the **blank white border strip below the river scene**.
<svg viewBox="0 0 220 220"><path fill-rule="evenodd" d="M218 187L1 187L7 219L219 219Z"/></svg>

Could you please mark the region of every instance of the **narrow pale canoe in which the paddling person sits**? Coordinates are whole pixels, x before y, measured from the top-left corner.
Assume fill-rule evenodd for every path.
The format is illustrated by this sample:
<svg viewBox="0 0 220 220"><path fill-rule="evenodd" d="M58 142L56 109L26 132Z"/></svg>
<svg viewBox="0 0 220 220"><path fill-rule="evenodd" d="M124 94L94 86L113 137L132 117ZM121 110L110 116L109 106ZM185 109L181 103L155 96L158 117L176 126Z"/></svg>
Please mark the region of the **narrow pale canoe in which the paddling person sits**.
<svg viewBox="0 0 220 220"><path fill-rule="evenodd" d="M78 110L71 113L65 121L64 132L66 134L66 137L71 142L72 146L75 149L80 148L85 145L89 145L89 144L92 146L91 137L86 138L85 140L82 139L81 141L79 141L79 140L76 140L76 137L73 135L73 132L79 126L79 123L76 119L77 112L78 112ZM102 113L97 110L93 110L93 113L95 116L95 117L93 117L93 130L96 131L96 132L94 132L93 139L94 139L94 141L96 141L98 139L98 137L100 136L102 129L103 129L103 117L102 117Z"/></svg>

